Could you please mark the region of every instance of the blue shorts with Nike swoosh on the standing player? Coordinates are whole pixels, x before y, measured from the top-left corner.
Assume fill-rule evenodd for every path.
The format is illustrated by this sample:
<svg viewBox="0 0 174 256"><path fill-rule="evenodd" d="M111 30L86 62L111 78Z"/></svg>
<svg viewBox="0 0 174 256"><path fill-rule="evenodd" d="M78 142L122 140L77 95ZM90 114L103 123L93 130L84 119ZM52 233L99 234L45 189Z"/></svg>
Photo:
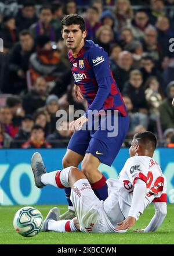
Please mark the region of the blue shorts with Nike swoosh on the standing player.
<svg viewBox="0 0 174 256"><path fill-rule="evenodd" d="M106 130L102 130L101 122L99 122L99 128L97 130L75 131L67 148L80 155L91 153L100 162L111 166L128 133L129 118L119 113L117 118L114 115L110 117L106 116L102 122L107 122L108 118L110 118L112 126L117 126L118 128L116 129L118 131L116 136L111 136L113 131L111 129L108 130L107 126Z"/></svg>

